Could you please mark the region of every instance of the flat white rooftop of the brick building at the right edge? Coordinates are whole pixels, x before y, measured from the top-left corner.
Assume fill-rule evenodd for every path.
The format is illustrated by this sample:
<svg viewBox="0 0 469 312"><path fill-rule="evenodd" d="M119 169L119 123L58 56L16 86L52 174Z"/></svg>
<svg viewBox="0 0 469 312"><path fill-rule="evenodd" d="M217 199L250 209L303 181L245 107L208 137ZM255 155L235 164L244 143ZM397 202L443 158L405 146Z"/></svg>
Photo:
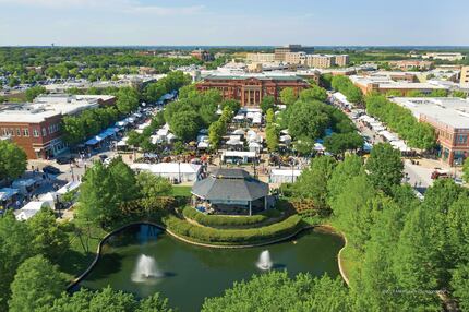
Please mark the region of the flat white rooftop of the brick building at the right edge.
<svg viewBox="0 0 469 312"><path fill-rule="evenodd" d="M455 129L469 129L469 99L458 97L394 97L392 100L410 109L418 119L424 116Z"/></svg>

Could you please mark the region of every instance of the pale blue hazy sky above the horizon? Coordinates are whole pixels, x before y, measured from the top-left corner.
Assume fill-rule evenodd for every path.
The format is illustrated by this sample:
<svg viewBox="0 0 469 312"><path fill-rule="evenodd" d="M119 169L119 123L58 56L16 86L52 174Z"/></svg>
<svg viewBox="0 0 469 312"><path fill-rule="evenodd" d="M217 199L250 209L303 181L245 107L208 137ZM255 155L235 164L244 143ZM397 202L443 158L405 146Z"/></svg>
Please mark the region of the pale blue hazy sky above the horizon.
<svg viewBox="0 0 469 312"><path fill-rule="evenodd" d="M0 46L469 46L468 0L0 0Z"/></svg>

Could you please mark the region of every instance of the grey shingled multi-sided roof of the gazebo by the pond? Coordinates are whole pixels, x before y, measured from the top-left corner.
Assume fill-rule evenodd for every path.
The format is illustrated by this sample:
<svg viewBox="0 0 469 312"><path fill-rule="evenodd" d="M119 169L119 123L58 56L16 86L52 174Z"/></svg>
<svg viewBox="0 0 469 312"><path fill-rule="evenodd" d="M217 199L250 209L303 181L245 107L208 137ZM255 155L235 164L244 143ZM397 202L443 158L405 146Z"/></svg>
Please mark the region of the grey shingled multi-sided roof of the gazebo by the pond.
<svg viewBox="0 0 469 312"><path fill-rule="evenodd" d="M242 169L218 169L195 182L192 193L208 201L255 201L268 195L268 184Z"/></svg>

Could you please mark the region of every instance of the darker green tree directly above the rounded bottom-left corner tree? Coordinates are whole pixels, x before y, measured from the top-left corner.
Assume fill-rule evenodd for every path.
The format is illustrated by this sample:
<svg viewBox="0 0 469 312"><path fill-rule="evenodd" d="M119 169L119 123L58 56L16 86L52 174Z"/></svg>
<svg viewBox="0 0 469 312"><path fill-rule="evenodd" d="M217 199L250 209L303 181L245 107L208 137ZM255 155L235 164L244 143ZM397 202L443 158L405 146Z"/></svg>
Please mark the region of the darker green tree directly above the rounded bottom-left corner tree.
<svg viewBox="0 0 469 312"><path fill-rule="evenodd" d="M56 221L51 208L43 207L39 213L26 221L33 240L31 245L36 253L55 262L69 248L69 237Z"/></svg>

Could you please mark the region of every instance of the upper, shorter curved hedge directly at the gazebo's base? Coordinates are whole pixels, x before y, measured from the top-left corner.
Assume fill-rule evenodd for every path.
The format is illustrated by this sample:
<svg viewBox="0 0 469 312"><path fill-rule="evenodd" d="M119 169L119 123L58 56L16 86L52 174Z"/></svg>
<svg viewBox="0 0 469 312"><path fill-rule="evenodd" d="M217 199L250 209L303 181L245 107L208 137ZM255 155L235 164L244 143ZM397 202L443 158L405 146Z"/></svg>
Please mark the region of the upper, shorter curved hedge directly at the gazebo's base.
<svg viewBox="0 0 469 312"><path fill-rule="evenodd" d="M278 217L280 214L281 213L279 211L268 209L254 216L221 216L205 215L190 206L182 209L182 215L185 218L193 219L197 224L207 227L254 226L264 223L270 217Z"/></svg>

